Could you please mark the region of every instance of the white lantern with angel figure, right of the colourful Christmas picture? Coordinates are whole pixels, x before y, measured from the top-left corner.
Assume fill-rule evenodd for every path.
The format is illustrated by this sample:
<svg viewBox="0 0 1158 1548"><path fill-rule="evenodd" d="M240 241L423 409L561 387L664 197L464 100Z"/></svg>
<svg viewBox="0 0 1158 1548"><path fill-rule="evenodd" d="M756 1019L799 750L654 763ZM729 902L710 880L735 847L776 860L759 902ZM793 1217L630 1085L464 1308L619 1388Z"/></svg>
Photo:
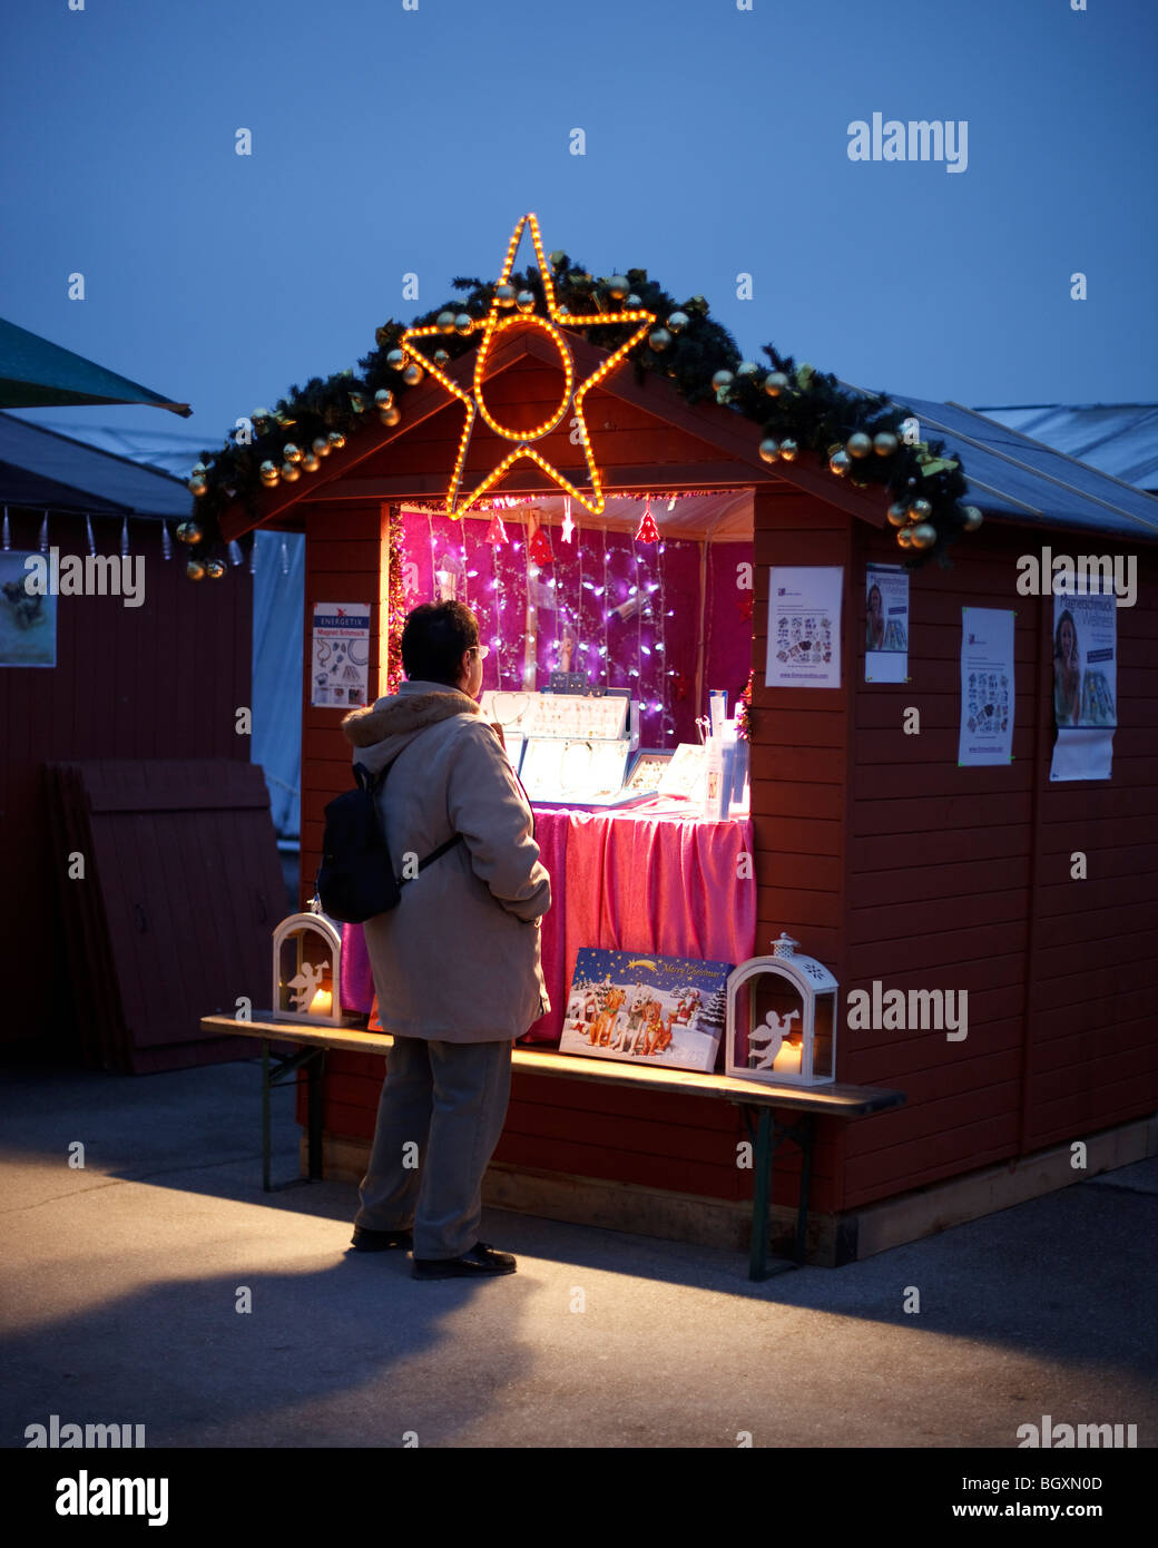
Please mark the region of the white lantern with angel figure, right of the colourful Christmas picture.
<svg viewBox="0 0 1158 1548"><path fill-rule="evenodd" d="M769 1085L821 1085L836 1077L836 991L814 957L797 957L780 933L771 957L728 975L728 1074Z"/></svg>

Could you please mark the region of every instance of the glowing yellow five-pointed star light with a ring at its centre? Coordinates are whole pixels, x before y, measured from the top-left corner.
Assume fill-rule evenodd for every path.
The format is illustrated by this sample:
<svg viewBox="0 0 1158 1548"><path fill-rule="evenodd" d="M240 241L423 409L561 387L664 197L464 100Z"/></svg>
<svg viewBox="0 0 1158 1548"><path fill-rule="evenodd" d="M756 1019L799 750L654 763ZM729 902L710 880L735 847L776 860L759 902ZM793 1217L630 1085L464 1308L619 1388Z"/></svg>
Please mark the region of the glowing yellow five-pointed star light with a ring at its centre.
<svg viewBox="0 0 1158 1548"><path fill-rule="evenodd" d="M415 339L424 339L430 337L432 334L438 334L440 328L437 324L429 324L424 328L407 328L399 341L399 348L403 348L406 353L421 361L423 365L435 378L435 381L441 387L444 387L446 392L449 392L452 396L458 398L458 401L466 409L466 416L463 420L463 433L458 440L458 454L455 457L454 472L451 474L451 485L446 491L446 505L444 505L446 514L454 517L455 520L464 515L472 505L481 500L488 494L488 491L492 489L498 483L498 480L503 478L503 475L517 461L522 460L536 463L546 474L548 478L553 478L554 483L557 483L565 494L577 500L579 505L582 505L582 508L588 511L591 515L602 515L605 505L604 486L599 477L599 469L594 461L594 454L591 450L591 440L587 433L587 421L584 420L584 398L591 390L591 387L598 387L599 382L604 379L604 376L607 376L610 372L615 370L616 365L619 365L619 362L629 354L630 350L635 348L636 344L639 344L639 341L647 334L647 331L655 324L655 313L642 310L616 311L616 313L598 311L590 314L584 313L581 316L560 314L554 299L554 280L551 277L551 266L546 262L546 255L543 254L542 237L539 235L539 221L533 214L523 215L523 218L514 228L514 234L506 248L506 262L503 263L503 271L498 276L498 280L495 282L495 289L498 285L506 285L511 277L511 269L514 268L514 257L516 252L519 251L519 241L523 234L523 226L529 226L531 229L531 240L534 243L534 252L539 262L539 276L542 279L543 296L546 299L546 317L537 313L522 313L522 311L509 313L503 307L500 307L495 294L495 299L491 302L491 310L483 319L483 322L477 324L472 328L472 331L481 331L483 341L475 354L474 382L471 392L461 389L458 382L452 381L452 378L447 376L440 365L437 365L432 359L427 359L427 356L423 354L421 350L416 350L413 347ZM624 322L638 322L639 327L635 330L630 339L625 341L625 344L621 344L618 350L608 354L607 359L602 361L602 364L598 365L591 372L591 375L576 387L574 362L571 361L571 351L567 337L562 333L562 324L567 324L568 328L590 328L596 325L616 325ZM505 328L514 328L514 327L540 328L543 333L546 333L554 347L559 350L559 356L564 362L565 387L562 401L551 415L551 418L545 420L542 424L534 426L534 429L531 430L511 430L506 426L500 424L491 415L483 399L483 367L486 365L491 344ZM582 491L579 491L564 472L560 472L553 463L550 463L542 455L542 452L537 452L534 446L531 446L531 441L537 441L543 435L550 435L550 432L554 430L554 427L564 420L568 409L573 409L574 423L579 429L579 443L584 449L584 461L587 463L587 475L591 485L590 495L582 494ZM474 430L474 421L477 415L483 416L483 420L486 421L486 424L491 426L495 435L500 435L508 441L516 441L517 444L514 450L511 450L506 457L503 457L500 463L497 463L491 469L491 472L483 478L483 481L478 485L474 494L468 494L460 498L463 467L466 466L466 454L471 446L471 432ZM570 539L567 540L570 542Z"/></svg>

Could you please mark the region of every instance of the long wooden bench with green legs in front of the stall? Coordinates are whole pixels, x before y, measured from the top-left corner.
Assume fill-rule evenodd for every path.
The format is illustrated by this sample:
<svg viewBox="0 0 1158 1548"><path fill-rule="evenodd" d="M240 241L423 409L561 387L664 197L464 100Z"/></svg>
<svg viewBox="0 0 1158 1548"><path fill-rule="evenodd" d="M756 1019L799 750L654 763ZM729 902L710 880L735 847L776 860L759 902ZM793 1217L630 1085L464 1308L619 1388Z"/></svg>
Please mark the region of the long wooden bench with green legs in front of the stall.
<svg viewBox="0 0 1158 1548"><path fill-rule="evenodd" d="M269 1183L269 1090L285 1085L299 1070L308 1077L307 1135L308 1172L311 1181L322 1176L322 1076L327 1048L347 1053L384 1056L393 1045L389 1033L365 1033L358 1026L307 1026L303 1022L276 1022L269 1012L257 1012L257 1020L237 1022L228 1015L203 1015L206 1036L255 1037L262 1043L262 1186ZM268 1017L262 1020L260 1017ZM293 1043L296 1054L277 1054L272 1043ZM675 1091L680 1096L709 1096L731 1102L743 1113L754 1146L752 1235L748 1277L768 1279L769 1274L803 1263L808 1231L808 1190L813 1170L813 1141L817 1118L867 1118L904 1104L904 1091L887 1091L867 1085L765 1085L737 1081L723 1074L700 1074L695 1070L653 1070L619 1063L613 1059L582 1059L570 1054L545 1053L516 1046L512 1068L523 1074L554 1076L564 1081L591 1081L598 1085L625 1085L647 1091ZM794 1115L791 1122L776 1118L774 1108ZM773 1197L773 1156L791 1139L800 1150L800 1197L796 1211L796 1249L791 1262L768 1265L768 1207Z"/></svg>

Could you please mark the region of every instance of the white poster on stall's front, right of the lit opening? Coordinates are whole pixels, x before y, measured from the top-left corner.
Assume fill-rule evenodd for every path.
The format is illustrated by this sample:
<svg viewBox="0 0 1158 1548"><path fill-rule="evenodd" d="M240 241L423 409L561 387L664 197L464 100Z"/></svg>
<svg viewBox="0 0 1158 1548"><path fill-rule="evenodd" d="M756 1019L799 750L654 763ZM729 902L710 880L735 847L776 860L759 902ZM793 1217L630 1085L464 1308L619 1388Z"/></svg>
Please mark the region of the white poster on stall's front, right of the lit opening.
<svg viewBox="0 0 1158 1548"><path fill-rule="evenodd" d="M768 687L841 686L841 565L768 567Z"/></svg>

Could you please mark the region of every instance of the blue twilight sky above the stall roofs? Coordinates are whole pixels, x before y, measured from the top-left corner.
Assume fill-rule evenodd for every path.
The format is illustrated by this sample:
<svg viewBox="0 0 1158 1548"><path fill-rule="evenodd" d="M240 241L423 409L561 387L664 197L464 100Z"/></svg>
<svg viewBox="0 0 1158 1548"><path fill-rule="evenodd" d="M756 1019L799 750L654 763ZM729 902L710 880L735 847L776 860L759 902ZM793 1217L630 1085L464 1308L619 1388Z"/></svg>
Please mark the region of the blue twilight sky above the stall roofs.
<svg viewBox="0 0 1158 1548"><path fill-rule="evenodd" d="M0 316L195 415L25 418L217 447L494 277L528 209L596 274L703 293L745 354L966 404L1158 398L1158 0L71 3L0 23ZM968 121L966 170L850 161L878 111Z"/></svg>

